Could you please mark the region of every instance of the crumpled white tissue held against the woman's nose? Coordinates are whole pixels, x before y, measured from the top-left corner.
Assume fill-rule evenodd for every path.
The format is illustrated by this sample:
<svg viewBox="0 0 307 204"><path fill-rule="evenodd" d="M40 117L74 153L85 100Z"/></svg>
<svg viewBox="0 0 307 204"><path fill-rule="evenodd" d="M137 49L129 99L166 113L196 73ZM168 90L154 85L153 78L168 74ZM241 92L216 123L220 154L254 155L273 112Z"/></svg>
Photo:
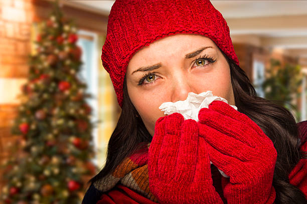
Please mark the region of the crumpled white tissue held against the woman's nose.
<svg viewBox="0 0 307 204"><path fill-rule="evenodd" d="M198 121L199 110L203 107L208 108L209 104L213 100L221 100L228 103L225 98L213 95L212 91L208 90L200 94L189 92L187 99L178 100L176 102L164 102L160 105L159 109L164 111L164 114L172 114L174 112L179 112L184 116L185 119L194 119ZM232 106L236 110L238 109L235 105L230 106ZM210 163L212 162L210 161ZM221 171L220 169L219 171L224 177L229 178L229 176L226 175L223 171Z"/></svg>

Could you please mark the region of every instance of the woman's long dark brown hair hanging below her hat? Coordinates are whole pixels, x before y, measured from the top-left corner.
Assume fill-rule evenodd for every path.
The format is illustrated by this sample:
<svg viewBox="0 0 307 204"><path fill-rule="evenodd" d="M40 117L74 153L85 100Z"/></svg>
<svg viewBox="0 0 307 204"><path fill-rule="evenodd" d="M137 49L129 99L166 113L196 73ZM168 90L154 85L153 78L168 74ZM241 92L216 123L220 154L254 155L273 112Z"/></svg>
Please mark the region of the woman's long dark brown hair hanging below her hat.
<svg viewBox="0 0 307 204"><path fill-rule="evenodd" d="M289 183L288 174L305 156L300 152L298 143L298 127L293 115L284 107L272 101L256 96L256 91L242 70L221 50L230 66L231 82L235 105L238 111L250 117L263 132L273 141L277 151L273 186L276 191L275 203L307 203L303 192ZM150 142L152 137L147 131L137 111L129 99L126 78L123 84L122 111L108 143L107 158L101 171L90 179L94 182L108 173L141 142Z"/></svg>

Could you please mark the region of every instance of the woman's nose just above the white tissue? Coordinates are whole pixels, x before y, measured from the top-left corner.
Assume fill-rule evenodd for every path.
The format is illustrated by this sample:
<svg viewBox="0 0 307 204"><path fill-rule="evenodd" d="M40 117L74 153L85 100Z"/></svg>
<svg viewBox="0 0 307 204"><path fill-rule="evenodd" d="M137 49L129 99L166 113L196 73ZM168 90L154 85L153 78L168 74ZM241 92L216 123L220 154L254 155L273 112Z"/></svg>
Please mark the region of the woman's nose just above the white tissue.
<svg viewBox="0 0 307 204"><path fill-rule="evenodd" d="M184 71L176 71L172 80L172 102L187 99L189 92L195 92L193 81L189 81Z"/></svg>

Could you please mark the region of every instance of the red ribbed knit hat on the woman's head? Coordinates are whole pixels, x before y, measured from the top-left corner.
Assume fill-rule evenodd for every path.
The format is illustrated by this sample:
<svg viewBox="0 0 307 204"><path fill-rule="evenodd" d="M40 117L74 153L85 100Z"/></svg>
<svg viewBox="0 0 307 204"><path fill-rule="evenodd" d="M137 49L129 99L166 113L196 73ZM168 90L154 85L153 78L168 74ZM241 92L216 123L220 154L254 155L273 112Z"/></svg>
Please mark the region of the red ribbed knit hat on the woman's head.
<svg viewBox="0 0 307 204"><path fill-rule="evenodd" d="M222 14L210 0L116 0L112 5L101 60L122 107L123 80L132 55L151 42L176 33L209 37L239 65Z"/></svg>

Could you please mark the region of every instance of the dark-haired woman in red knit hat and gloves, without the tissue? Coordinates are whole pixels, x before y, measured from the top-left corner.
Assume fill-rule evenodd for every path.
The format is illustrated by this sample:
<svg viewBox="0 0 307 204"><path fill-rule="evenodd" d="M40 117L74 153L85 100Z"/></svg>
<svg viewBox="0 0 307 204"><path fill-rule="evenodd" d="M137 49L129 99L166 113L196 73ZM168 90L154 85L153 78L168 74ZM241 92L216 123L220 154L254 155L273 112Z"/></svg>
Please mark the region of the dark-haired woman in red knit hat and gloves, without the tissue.
<svg viewBox="0 0 307 204"><path fill-rule="evenodd" d="M122 111L84 204L307 203L307 125L256 96L209 0L116 0L101 58ZM159 109L207 90L228 104L198 122Z"/></svg>

